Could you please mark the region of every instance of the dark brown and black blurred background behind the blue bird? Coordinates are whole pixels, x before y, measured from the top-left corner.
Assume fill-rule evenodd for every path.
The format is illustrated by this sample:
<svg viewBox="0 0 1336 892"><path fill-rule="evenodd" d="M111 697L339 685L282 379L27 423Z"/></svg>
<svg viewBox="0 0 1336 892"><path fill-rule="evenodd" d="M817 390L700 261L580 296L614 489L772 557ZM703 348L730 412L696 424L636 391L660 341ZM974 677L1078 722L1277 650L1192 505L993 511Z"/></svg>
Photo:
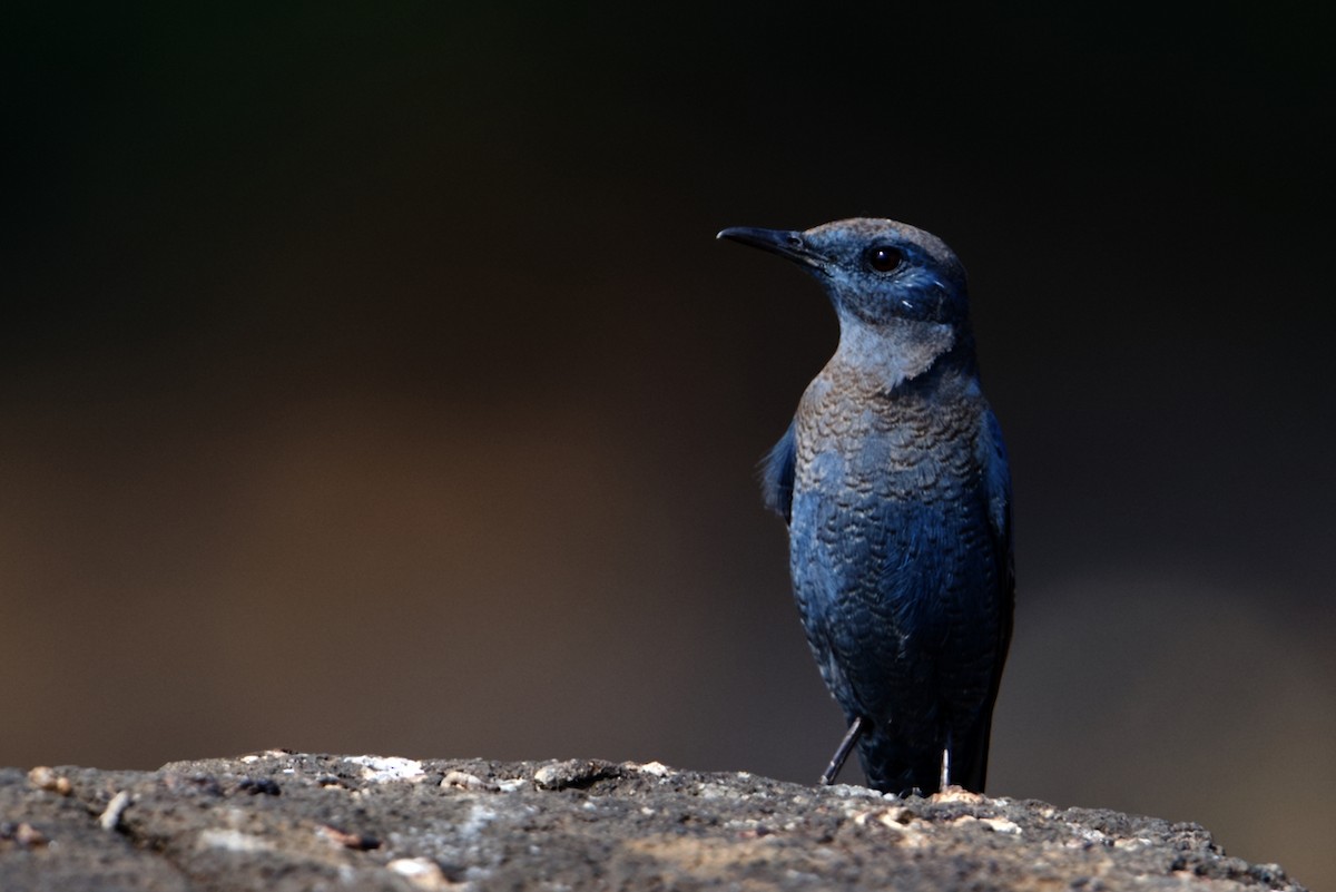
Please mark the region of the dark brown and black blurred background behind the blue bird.
<svg viewBox="0 0 1336 892"><path fill-rule="evenodd" d="M892 216L1013 453L990 792L1336 888L1331 13L454 5L7 13L0 764L811 781L835 323L713 234Z"/></svg>

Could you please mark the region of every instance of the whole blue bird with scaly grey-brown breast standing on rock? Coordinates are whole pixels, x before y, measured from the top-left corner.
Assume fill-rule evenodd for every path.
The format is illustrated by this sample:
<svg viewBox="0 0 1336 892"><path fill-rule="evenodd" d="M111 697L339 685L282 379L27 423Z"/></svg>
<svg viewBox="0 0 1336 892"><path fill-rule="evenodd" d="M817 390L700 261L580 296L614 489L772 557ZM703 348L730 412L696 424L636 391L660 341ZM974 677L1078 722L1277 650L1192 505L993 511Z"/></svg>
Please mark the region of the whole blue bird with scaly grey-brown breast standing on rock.
<svg viewBox="0 0 1336 892"><path fill-rule="evenodd" d="M874 789L982 793L1011 641L1011 475L983 397L965 267L888 219L717 238L798 263L824 288L839 343L762 462L788 526L807 642Z"/></svg>

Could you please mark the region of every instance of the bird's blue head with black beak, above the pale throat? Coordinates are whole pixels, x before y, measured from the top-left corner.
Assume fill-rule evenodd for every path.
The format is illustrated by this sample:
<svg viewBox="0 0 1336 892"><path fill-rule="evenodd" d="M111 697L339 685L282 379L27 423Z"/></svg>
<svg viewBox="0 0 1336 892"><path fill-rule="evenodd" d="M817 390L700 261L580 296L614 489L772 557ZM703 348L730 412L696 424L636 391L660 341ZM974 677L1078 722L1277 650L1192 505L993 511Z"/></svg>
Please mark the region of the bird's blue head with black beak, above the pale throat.
<svg viewBox="0 0 1336 892"><path fill-rule="evenodd" d="M719 234L786 256L826 287L840 322L894 319L958 324L969 318L965 267L931 232L870 218L811 230L731 227Z"/></svg>

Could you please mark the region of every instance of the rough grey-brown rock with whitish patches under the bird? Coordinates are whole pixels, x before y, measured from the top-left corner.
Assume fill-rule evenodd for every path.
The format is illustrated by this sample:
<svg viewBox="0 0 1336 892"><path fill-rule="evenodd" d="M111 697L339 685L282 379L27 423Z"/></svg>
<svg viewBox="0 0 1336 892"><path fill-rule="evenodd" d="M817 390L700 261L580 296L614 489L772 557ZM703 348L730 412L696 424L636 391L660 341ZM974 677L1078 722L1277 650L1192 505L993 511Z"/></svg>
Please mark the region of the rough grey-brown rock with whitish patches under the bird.
<svg viewBox="0 0 1336 892"><path fill-rule="evenodd" d="M0 769L0 889L1289 889L1196 824L573 760Z"/></svg>

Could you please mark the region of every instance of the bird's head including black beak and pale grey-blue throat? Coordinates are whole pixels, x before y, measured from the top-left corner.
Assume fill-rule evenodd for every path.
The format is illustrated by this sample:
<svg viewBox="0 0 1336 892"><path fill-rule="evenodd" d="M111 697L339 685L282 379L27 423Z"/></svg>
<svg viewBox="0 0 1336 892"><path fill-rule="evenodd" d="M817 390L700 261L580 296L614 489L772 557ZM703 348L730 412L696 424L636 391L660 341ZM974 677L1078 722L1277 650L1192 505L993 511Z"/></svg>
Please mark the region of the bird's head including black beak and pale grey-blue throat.
<svg viewBox="0 0 1336 892"><path fill-rule="evenodd" d="M779 254L826 288L840 351L887 383L915 378L947 354L974 362L965 267L942 239L895 220L854 218L806 231L731 227L719 234Z"/></svg>

